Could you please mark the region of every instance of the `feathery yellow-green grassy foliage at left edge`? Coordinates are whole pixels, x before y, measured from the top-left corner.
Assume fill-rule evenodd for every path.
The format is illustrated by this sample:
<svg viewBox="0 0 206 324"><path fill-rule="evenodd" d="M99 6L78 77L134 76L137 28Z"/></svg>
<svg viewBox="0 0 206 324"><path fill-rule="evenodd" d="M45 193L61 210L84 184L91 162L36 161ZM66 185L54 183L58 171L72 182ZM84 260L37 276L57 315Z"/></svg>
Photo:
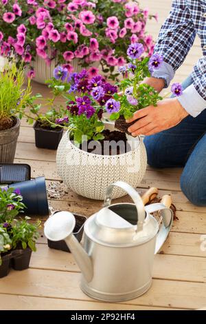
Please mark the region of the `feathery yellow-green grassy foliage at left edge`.
<svg viewBox="0 0 206 324"><path fill-rule="evenodd" d="M25 70L23 64L16 67L14 61L8 61L0 72L0 121L4 118L23 117L27 100L30 98L30 79L24 85Z"/></svg>

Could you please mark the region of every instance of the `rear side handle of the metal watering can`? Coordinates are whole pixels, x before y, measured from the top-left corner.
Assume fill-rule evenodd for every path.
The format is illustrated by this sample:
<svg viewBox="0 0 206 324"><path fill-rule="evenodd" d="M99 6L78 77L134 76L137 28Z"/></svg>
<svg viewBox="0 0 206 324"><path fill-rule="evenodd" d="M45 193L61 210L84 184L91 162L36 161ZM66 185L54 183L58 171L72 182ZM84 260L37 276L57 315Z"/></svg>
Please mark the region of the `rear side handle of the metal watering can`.
<svg viewBox="0 0 206 324"><path fill-rule="evenodd" d="M152 203L152 205L147 205L145 208L149 214L152 212L157 212L158 210L161 211L163 223L159 228L159 233L157 234L157 241L155 246L155 254L157 254L163 243L165 243L168 234L170 233L173 221L173 212L172 210L170 210L170 208L165 207L163 203Z"/></svg>

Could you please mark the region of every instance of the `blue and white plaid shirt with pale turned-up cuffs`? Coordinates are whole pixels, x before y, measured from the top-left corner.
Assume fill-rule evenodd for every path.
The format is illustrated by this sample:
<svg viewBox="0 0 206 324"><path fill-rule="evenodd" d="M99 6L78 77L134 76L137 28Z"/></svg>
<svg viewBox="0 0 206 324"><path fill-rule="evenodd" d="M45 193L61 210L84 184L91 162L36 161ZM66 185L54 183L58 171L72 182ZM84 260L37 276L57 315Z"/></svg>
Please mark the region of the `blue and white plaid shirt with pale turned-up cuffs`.
<svg viewBox="0 0 206 324"><path fill-rule="evenodd" d="M183 91L179 101L193 117L206 108L206 0L173 0L169 17L161 27L155 52L164 63L152 76L165 79L168 86L175 71L185 60L198 34L203 57L192 72L193 84Z"/></svg>

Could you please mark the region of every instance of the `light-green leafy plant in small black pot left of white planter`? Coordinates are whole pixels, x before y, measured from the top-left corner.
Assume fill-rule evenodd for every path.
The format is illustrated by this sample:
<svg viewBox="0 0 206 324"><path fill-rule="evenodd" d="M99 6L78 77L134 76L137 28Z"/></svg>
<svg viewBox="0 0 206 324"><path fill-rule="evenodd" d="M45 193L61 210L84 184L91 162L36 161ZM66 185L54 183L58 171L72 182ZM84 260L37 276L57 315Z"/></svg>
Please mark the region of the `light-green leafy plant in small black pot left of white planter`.
<svg viewBox="0 0 206 324"><path fill-rule="evenodd" d="M66 75L68 74L67 69ZM55 70L54 70L55 71ZM63 80L62 80L63 81ZM69 90L69 84L64 83L65 91ZM34 123L35 144L37 148L47 148L56 150L60 139L62 138L63 129L55 123L59 115L65 114L65 109L62 105L55 105L55 99L62 92L58 89L58 85L52 89L52 98L43 99L43 105L47 107L45 113L41 112L42 104L36 103L36 100L41 99L41 94L36 94L27 100L27 106L30 108L30 114L25 114L28 123Z"/></svg>

